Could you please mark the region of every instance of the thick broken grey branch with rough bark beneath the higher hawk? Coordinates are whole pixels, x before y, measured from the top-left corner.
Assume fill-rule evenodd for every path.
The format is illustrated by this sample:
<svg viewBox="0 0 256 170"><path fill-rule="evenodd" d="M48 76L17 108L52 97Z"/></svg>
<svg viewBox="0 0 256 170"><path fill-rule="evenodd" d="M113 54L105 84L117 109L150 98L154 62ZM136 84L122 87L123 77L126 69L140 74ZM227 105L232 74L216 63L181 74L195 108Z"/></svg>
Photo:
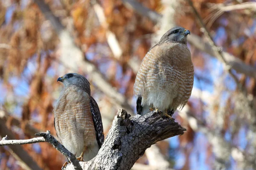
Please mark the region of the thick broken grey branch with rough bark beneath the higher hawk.
<svg viewBox="0 0 256 170"><path fill-rule="evenodd" d="M163 119L161 112L130 116L119 109L98 155L91 161L80 162L83 170L130 170L152 144L186 130L174 119ZM73 169L72 164L66 167Z"/></svg>

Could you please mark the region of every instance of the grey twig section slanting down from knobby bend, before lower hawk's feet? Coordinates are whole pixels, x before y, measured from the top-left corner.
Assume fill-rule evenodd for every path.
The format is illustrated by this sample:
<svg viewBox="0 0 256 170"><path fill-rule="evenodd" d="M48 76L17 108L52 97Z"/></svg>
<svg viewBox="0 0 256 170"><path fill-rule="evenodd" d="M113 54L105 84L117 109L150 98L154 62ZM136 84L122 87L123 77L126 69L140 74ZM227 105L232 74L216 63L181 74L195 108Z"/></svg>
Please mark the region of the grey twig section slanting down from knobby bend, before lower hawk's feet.
<svg viewBox="0 0 256 170"><path fill-rule="evenodd" d="M49 142L52 144L52 146L60 151L64 156L67 157L73 164L75 170L82 170L81 165L79 164L79 161L76 159L76 156L73 155L69 150L67 150L62 144L58 142L55 137L53 137L50 133L49 130L47 130L46 133L41 132L41 133L36 133L35 136L43 136L46 142Z"/></svg>

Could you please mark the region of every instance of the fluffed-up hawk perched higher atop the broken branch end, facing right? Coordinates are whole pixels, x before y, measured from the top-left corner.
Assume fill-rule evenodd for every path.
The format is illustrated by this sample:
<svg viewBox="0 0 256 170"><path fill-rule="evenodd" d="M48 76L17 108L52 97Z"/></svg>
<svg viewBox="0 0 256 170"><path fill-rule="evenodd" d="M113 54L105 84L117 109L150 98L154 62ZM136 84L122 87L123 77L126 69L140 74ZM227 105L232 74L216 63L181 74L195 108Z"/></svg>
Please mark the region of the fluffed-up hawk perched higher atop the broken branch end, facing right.
<svg viewBox="0 0 256 170"><path fill-rule="evenodd" d="M186 105L194 82L188 34L182 27L171 28L143 58L134 84L137 114L158 109L172 116Z"/></svg>

